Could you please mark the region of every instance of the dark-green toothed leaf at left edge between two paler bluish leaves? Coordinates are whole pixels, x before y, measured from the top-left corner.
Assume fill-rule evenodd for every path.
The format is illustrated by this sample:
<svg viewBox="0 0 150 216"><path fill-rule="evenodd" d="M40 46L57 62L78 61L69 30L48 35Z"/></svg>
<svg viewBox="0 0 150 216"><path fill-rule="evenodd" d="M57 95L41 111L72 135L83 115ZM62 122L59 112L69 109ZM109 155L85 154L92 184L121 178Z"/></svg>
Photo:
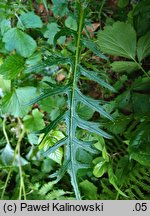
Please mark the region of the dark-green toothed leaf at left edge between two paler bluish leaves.
<svg viewBox="0 0 150 216"><path fill-rule="evenodd" d="M23 71L24 63L24 59L17 54L8 56L0 66L0 74L3 75L4 79L14 79Z"/></svg>

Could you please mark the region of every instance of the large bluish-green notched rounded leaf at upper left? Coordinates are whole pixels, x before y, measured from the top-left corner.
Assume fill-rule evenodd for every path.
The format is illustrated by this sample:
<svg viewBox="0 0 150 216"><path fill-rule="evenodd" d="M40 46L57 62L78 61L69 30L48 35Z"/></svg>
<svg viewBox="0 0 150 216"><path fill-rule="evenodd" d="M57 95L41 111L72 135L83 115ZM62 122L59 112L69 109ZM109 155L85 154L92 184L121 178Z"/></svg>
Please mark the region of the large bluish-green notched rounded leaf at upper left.
<svg viewBox="0 0 150 216"><path fill-rule="evenodd" d="M3 42L8 51L16 49L16 52L23 57L31 56L37 47L32 37L17 28L8 30L4 34Z"/></svg>

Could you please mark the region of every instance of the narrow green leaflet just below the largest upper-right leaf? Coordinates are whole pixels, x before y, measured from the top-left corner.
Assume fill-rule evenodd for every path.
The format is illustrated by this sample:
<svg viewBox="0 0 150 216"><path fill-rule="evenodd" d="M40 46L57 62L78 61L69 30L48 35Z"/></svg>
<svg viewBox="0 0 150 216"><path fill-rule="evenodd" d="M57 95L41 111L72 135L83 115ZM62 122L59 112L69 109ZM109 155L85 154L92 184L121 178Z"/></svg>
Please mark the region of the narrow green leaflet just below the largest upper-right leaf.
<svg viewBox="0 0 150 216"><path fill-rule="evenodd" d="M116 61L111 64L112 70L116 72L132 73L139 69L139 65L132 61Z"/></svg>

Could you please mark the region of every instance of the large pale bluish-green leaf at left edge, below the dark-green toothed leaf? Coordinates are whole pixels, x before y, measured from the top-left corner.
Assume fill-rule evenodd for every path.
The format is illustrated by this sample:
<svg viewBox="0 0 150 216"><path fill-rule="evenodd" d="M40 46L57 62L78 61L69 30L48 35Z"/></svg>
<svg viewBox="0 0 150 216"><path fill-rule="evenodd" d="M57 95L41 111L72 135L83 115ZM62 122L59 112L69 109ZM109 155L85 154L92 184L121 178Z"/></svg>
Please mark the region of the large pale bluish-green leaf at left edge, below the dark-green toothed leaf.
<svg viewBox="0 0 150 216"><path fill-rule="evenodd" d="M30 107L25 104L36 95L36 88L22 87L5 95L2 99L2 112L13 115L14 117L23 117L28 113Z"/></svg>

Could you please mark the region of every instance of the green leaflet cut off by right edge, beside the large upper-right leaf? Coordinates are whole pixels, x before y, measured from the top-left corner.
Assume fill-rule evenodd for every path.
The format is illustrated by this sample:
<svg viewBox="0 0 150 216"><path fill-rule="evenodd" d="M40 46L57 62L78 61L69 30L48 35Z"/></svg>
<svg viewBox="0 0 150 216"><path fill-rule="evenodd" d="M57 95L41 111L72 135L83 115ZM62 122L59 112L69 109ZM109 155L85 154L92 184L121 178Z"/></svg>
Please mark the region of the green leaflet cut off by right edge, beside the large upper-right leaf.
<svg viewBox="0 0 150 216"><path fill-rule="evenodd" d="M150 55L150 31L141 37L137 44L137 56L139 62Z"/></svg>

